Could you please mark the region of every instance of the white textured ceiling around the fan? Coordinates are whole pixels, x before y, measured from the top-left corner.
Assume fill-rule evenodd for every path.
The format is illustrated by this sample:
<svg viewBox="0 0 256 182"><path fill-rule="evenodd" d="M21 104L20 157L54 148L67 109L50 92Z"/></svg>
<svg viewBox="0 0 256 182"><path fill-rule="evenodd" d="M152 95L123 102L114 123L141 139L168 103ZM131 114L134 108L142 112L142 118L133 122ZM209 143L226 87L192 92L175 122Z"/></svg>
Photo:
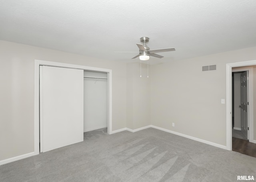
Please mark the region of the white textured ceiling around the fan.
<svg viewBox="0 0 256 182"><path fill-rule="evenodd" d="M135 43L164 63L256 46L256 0L0 0L0 39L133 62Z"/></svg>

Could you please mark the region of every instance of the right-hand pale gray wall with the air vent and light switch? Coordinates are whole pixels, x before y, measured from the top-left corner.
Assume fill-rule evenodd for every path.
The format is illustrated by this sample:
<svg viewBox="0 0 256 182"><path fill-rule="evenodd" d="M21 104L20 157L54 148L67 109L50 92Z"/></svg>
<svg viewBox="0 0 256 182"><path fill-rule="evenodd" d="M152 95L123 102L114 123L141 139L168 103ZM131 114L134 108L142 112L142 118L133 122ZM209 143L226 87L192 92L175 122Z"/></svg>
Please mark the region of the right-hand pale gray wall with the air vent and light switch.
<svg viewBox="0 0 256 182"><path fill-rule="evenodd" d="M250 60L256 47L152 66L152 125L226 146L226 64Z"/></svg>

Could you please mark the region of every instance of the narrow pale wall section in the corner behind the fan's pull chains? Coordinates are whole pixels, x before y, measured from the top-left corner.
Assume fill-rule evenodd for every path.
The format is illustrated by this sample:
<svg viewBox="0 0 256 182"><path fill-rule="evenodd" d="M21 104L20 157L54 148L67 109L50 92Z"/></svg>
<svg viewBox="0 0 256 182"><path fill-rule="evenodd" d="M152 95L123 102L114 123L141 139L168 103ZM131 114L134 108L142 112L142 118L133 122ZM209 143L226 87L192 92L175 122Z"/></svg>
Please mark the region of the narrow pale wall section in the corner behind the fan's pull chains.
<svg viewBox="0 0 256 182"><path fill-rule="evenodd" d="M142 64L140 78L140 64L127 64L127 127L138 129L150 125L150 68L147 78L147 65Z"/></svg>

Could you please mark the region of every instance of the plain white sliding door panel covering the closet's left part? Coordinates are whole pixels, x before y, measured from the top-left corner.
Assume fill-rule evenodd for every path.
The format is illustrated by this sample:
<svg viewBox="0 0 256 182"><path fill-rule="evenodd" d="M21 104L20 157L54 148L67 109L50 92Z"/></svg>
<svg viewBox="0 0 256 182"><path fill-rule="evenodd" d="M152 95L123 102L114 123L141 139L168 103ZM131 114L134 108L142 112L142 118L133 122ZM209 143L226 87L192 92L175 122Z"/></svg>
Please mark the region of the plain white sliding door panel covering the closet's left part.
<svg viewBox="0 0 256 182"><path fill-rule="evenodd" d="M84 140L84 70L41 66L40 151Z"/></svg>

